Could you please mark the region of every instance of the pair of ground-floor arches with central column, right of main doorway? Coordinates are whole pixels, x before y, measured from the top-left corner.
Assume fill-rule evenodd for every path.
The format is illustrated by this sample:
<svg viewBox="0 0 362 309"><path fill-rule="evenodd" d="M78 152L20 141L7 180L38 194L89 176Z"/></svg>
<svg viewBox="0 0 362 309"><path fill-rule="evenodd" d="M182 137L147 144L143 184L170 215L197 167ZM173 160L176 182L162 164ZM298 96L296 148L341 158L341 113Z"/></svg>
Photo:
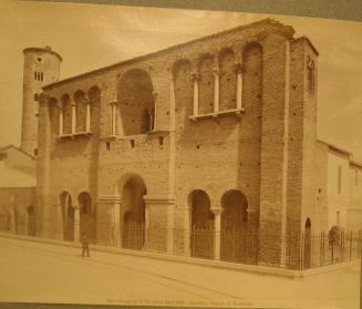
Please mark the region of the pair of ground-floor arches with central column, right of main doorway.
<svg viewBox="0 0 362 309"><path fill-rule="evenodd" d="M226 192L213 207L205 190L188 196L190 255L200 258L247 261L256 258L256 223L248 222L248 202L237 189Z"/></svg>

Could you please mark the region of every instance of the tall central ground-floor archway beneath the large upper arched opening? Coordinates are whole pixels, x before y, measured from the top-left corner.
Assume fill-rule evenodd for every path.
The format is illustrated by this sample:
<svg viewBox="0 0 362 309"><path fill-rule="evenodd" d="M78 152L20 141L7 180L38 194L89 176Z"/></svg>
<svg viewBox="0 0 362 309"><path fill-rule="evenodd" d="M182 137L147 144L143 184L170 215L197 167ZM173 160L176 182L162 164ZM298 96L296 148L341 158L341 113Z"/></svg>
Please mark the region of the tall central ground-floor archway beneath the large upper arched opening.
<svg viewBox="0 0 362 309"><path fill-rule="evenodd" d="M145 194L146 186L139 176L130 177L123 186L123 248L139 250L145 244Z"/></svg>

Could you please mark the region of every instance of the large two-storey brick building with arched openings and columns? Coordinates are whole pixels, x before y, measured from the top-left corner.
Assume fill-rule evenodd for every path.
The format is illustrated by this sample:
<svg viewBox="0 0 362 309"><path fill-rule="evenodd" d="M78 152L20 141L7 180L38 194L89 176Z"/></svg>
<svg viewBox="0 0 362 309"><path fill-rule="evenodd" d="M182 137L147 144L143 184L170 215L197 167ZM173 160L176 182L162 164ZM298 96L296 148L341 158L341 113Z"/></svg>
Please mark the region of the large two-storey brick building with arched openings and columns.
<svg viewBox="0 0 362 309"><path fill-rule="evenodd" d="M43 86L37 234L227 259L242 230L257 264L298 265L328 181L318 51L293 34L266 19Z"/></svg>

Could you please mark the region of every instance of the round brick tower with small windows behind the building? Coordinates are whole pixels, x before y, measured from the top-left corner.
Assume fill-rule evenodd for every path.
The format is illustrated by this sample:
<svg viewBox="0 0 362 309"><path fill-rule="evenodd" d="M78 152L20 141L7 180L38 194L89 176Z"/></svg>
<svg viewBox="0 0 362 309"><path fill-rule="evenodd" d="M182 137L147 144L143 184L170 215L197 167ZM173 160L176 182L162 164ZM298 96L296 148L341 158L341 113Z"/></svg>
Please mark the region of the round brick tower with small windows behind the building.
<svg viewBox="0 0 362 309"><path fill-rule="evenodd" d="M38 95L59 81L62 58L50 47L28 48L24 53L21 150L38 155Z"/></svg>

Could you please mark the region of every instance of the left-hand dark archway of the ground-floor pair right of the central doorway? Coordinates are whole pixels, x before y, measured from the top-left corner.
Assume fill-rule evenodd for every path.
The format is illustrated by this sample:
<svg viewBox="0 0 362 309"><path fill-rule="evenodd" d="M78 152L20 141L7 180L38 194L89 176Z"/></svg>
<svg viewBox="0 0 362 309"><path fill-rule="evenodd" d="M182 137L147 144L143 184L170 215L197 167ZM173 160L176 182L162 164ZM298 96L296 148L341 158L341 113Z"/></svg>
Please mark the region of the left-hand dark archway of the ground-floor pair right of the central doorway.
<svg viewBox="0 0 362 309"><path fill-rule="evenodd" d="M210 199L200 189L190 193L192 209L190 251L193 257L214 257L214 213L210 210Z"/></svg>

